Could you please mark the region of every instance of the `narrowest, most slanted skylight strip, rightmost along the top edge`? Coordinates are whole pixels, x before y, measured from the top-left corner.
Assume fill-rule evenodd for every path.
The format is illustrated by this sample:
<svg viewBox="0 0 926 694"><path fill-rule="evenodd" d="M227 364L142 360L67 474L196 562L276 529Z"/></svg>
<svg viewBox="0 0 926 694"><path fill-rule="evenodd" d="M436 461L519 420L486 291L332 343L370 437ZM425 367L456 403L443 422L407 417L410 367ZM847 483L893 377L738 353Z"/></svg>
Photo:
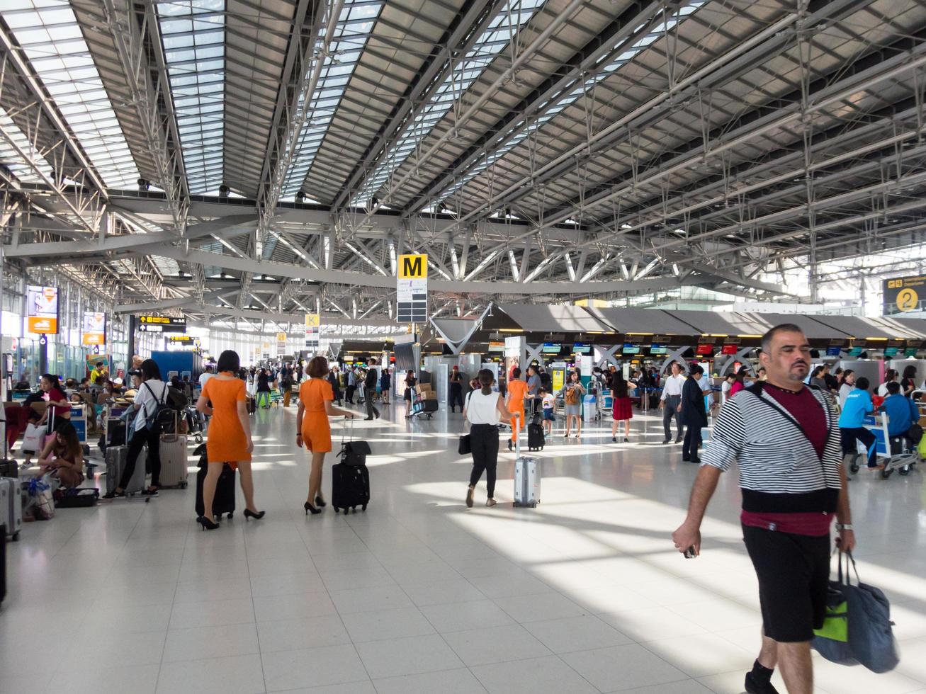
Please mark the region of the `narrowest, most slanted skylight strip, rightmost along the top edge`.
<svg viewBox="0 0 926 694"><path fill-rule="evenodd" d="M479 176L482 173L482 171L484 171L488 167L491 167L496 161L501 159L503 156L507 155L507 153L510 152L512 149L514 149L520 143L527 140L529 135L532 135L536 130L540 130L546 123L548 123L550 120L555 118L563 109L565 109L569 105L574 104L583 94L593 89L594 86L598 82L606 79L616 69L628 63L630 60L632 60L634 56L640 53L646 46L648 46L650 43L654 43L655 41L657 41L657 39L662 37L668 31L673 29L677 24L679 24L682 21L682 19L691 15L694 12L694 10L696 10L698 7L703 6L706 1L707 0L695 0L695 2L691 2L691 3L688 3L687 5L683 5L682 7L679 8L679 10L676 13L674 13L671 19L669 19L666 22L663 22L662 24L657 25L657 27L654 27L653 31L650 31L649 33L647 33L642 39L640 39L636 43L633 43L633 45L630 48L628 48L626 51L624 51L619 56L614 58L610 63L602 67L595 66L594 68L592 68L594 70L594 75L592 77L588 78L584 82L576 80L576 81L569 83L569 85L565 87L564 91L560 93L564 95L559 97L558 102L557 102L557 97L554 97L550 99L549 101L547 101L544 105L540 106L539 110L544 111L544 108L546 108L550 104L553 104L546 110L543 116L534 120L527 128L520 130L518 134L512 137L507 143L503 144L501 147L494 150L491 154L487 154L482 159L482 161L476 166L472 167L465 176L463 176L456 183L454 183L449 188L444 190L444 192L440 193L437 196L437 199L445 200L446 198L459 192L459 190L463 188L463 186L465 186L467 183L469 183L470 180L475 179L477 176ZM614 48L617 48L618 45L619 43L616 44ZM603 58L603 59L607 59L607 58ZM578 86L576 86L574 89L571 89L571 91L567 91L571 87L573 87L573 85L578 85ZM515 128L519 129L523 125L523 123L524 123L523 120L519 121L519 123L515 126Z"/></svg>

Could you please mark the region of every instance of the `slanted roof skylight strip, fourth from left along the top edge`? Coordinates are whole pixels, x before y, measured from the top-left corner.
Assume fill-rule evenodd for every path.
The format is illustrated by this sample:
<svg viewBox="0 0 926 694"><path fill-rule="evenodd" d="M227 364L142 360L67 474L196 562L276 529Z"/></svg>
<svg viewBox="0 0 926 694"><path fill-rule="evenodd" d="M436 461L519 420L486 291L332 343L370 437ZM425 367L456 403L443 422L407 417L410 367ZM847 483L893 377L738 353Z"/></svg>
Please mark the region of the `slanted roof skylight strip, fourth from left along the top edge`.
<svg viewBox="0 0 926 694"><path fill-rule="evenodd" d="M444 82L434 93L432 100L419 111L418 116L407 128L405 133L390 149L376 167L363 188L351 200L354 205L366 205L374 192L393 175L395 169L402 166L419 143L428 136L441 118L444 118L450 108L473 82L479 79L485 68L501 53L510 42L516 31L523 28L532 18L538 7L545 0L508 0L498 14L492 19L488 28L476 39L476 43L463 56L461 63L454 66L452 74L444 78ZM519 21L518 24L515 22Z"/></svg>

